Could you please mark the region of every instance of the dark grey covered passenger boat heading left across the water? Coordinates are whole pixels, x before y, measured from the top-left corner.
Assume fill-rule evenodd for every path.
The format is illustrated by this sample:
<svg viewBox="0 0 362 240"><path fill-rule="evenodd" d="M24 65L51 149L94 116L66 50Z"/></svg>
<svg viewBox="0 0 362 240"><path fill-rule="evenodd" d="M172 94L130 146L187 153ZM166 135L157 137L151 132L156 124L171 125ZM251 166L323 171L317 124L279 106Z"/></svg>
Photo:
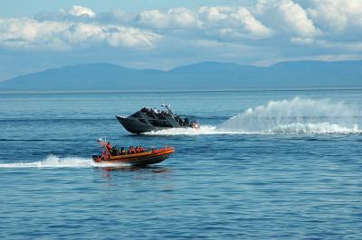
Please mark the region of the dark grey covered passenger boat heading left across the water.
<svg viewBox="0 0 362 240"><path fill-rule="evenodd" d="M165 111L154 108L143 107L133 115L121 116L116 115L119 123L132 134L142 134L151 131L160 131L170 128L199 128L199 124L193 116L175 115L170 106L161 104L166 107Z"/></svg>

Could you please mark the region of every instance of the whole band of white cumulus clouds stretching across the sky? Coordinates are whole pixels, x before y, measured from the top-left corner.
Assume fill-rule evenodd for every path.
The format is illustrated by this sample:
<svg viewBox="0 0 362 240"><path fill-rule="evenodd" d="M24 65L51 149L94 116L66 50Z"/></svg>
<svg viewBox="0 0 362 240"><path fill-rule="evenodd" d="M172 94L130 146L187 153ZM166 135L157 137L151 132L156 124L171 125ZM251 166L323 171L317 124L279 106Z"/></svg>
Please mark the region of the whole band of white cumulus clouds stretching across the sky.
<svg viewBox="0 0 362 240"><path fill-rule="evenodd" d="M336 39L347 31L351 33L344 34L344 39L355 36L354 44L348 46L359 46L356 36L362 33L356 32L362 32L361 0L299 3L258 0L248 6L177 7L139 13L114 9L97 14L88 7L73 5L34 17L0 18L0 46L52 51L104 45L159 50L165 48L158 44L162 40L177 45L189 41L260 47L279 42L280 46L328 48L330 42L343 42Z"/></svg>

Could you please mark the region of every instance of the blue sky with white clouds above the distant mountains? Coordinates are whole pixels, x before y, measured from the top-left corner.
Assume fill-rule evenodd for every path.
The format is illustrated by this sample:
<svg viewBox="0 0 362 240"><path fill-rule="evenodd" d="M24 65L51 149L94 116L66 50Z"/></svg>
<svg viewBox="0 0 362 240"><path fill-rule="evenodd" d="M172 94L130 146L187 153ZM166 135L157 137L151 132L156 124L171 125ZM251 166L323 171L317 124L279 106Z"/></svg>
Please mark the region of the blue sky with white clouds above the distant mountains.
<svg viewBox="0 0 362 240"><path fill-rule="evenodd" d="M93 62L172 69L288 60L362 60L362 0L0 4L0 80Z"/></svg>

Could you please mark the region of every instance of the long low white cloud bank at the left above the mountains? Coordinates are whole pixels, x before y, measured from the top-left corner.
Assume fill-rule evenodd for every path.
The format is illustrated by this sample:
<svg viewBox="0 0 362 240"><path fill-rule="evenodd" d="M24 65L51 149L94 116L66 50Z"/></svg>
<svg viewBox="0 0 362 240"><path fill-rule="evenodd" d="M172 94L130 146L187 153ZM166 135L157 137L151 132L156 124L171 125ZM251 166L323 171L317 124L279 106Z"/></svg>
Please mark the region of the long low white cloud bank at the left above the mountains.
<svg viewBox="0 0 362 240"><path fill-rule="evenodd" d="M0 19L0 45L23 49L66 51L102 42L111 47L152 48L160 35L112 24L38 22L29 18Z"/></svg>

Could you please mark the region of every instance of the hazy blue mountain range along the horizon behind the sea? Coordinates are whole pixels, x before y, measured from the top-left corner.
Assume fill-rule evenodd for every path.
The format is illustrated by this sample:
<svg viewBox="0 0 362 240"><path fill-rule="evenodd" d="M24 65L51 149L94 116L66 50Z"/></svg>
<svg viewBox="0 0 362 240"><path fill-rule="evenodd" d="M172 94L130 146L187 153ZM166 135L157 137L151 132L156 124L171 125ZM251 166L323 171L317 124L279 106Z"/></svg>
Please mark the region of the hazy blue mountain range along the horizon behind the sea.
<svg viewBox="0 0 362 240"><path fill-rule="evenodd" d="M202 62L167 71L109 63L47 69L0 82L0 90L168 90L362 87L362 60L290 61L270 67Z"/></svg>

